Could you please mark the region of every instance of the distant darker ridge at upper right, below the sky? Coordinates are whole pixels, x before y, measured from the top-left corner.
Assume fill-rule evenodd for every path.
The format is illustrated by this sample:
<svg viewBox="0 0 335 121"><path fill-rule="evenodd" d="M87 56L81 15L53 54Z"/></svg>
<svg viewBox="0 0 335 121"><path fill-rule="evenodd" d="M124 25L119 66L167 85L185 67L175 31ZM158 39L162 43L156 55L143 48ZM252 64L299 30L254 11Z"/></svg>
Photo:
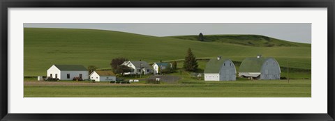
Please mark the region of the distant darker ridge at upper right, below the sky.
<svg viewBox="0 0 335 121"><path fill-rule="evenodd" d="M169 36L182 40L198 40L198 35ZM253 47L311 47L310 44L288 42L264 35L204 35L204 42L231 43Z"/></svg>

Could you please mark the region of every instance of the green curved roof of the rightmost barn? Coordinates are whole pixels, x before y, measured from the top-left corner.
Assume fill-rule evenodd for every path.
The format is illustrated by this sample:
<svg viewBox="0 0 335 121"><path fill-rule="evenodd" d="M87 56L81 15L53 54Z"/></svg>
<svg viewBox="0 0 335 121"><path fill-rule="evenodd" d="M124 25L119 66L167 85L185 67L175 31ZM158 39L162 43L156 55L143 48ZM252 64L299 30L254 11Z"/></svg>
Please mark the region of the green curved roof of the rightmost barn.
<svg viewBox="0 0 335 121"><path fill-rule="evenodd" d="M262 65L270 58L264 57L251 57L245 58L239 66L239 72L260 72L262 70Z"/></svg>

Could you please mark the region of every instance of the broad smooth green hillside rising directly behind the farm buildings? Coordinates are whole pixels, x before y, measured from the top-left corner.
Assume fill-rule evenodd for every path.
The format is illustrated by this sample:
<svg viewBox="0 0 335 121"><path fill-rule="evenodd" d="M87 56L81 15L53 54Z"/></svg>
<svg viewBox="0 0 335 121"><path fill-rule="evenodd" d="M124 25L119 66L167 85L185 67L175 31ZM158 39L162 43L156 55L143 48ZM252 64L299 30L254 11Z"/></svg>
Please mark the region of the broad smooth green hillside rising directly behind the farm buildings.
<svg viewBox="0 0 335 121"><path fill-rule="evenodd" d="M254 44L260 46L249 46L234 43L245 35L233 36L236 38L230 38L229 42L200 42L118 31L24 28L24 76L46 75L52 64L106 68L116 57L134 61L141 59L149 63L183 59L188 48L198 58L224 56L242 61L246 57L262 54L276 58L281 66L289 62L290 67L311 70L311 45L270 38L270 42L276 43L274 47L256 42ZM207 35L205 37L209 39Z"/></svg>

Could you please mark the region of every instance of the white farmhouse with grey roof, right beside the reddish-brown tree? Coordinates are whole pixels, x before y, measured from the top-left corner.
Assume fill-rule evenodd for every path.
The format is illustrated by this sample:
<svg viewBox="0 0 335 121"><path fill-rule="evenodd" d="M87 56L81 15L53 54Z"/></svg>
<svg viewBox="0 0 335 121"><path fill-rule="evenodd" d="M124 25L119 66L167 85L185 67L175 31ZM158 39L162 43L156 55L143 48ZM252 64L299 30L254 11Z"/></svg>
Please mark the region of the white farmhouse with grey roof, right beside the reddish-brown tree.
<svg viewBox="0 0 335 121"><path fill-rule="evenodd" d="M133 69L133 72L124 74L151 74L153 73L152 67L145 61L124 61L121 65L126 65Z"/></svg>

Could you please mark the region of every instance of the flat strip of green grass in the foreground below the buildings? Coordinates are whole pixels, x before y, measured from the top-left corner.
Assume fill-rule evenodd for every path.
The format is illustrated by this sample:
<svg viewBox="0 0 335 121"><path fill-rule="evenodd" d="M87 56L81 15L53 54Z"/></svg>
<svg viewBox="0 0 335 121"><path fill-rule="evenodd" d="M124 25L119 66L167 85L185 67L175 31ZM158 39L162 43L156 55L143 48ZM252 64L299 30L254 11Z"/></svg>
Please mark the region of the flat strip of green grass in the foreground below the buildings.
<svg viewBox="0 0 335 121"><path fill-rule="evenodd" d="M31 82L31 81L30 81ZM40 83L36 81L36 83ZM76 82L24 85L24 97L311 97L311 80L179 81L177 84ZM80 83L86 83L84 86Z"/></svg>

